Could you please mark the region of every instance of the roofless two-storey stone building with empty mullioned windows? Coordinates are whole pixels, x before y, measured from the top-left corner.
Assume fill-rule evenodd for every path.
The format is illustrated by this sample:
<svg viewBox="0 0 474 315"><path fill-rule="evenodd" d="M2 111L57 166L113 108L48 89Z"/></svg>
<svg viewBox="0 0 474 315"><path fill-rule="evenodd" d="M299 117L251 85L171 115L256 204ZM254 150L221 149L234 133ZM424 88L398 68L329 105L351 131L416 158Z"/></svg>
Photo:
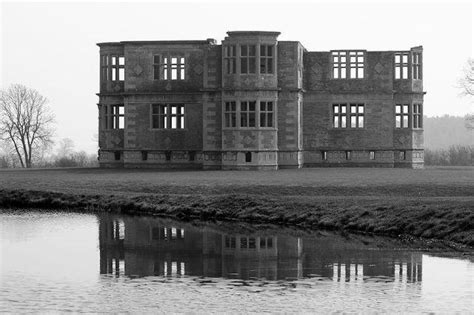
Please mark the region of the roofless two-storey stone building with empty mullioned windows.
<svg viewBox="0 0 474 315"><path fill-rule="evenodd" d="M102 167L423 167L422 47L307 51L278 32L100 43Z"/></svg>

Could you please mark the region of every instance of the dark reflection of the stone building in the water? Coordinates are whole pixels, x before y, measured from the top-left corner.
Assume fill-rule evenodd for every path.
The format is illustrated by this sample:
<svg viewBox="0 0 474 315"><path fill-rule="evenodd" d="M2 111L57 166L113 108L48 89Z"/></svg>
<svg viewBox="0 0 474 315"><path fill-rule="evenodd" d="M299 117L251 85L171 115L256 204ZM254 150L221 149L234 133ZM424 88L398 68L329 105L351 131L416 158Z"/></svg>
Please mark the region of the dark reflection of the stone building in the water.
<svg viewBox="0 0 474 315"><path fill-rule="evenodd" d="M421 255L361 250L336 237L224 233L170 220L99 217L101 273L292 279L321 276L363 281L385 276L421 281Z"/></svg>

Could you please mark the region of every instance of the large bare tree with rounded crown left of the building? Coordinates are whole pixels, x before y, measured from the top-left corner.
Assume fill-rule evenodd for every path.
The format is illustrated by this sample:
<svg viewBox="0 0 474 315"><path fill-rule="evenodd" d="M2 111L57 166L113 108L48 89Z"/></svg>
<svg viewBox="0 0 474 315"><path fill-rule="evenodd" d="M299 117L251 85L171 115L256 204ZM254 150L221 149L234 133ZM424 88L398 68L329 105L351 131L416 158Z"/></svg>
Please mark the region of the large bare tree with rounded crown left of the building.
<svg viewBox="0 0 474 315"><path fill-rule="evenodd" d="M0 91L0 137L14 147L22 167L30 168L35 154L52 143L54 114L47 102L21 84Z"/></svg>

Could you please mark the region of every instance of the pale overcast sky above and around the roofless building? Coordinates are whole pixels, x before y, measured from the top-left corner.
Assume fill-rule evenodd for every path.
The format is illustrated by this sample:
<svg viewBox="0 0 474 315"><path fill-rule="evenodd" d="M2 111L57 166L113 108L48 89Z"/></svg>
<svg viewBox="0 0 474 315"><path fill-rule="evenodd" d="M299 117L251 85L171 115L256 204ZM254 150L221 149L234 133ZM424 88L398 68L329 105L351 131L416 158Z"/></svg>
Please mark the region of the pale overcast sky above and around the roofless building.
<svg viewBox="0 0 474 315"><path fill-rule="evenodd" d="M1 0L0 0L1 1ZM309 51L424 47L424 111L474 112L457 78L473 56L471 1L2 2L1 88L37 89L56 113L57 139L96 152L98 42L215 38L279 31Z"/></svg>

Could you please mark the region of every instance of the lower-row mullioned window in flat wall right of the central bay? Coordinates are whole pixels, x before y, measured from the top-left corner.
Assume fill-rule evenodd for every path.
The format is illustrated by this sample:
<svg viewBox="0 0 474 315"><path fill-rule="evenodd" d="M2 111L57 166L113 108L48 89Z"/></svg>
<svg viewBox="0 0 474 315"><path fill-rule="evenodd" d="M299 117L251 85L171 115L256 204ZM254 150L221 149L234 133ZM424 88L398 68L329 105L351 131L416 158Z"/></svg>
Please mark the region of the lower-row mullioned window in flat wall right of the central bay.
<svg viewBox="0 0 474 315"><path fill-rule="evenodd" d="M364 104L333 104L332 126L334 128L364 128L364 107Z"/></svg>

